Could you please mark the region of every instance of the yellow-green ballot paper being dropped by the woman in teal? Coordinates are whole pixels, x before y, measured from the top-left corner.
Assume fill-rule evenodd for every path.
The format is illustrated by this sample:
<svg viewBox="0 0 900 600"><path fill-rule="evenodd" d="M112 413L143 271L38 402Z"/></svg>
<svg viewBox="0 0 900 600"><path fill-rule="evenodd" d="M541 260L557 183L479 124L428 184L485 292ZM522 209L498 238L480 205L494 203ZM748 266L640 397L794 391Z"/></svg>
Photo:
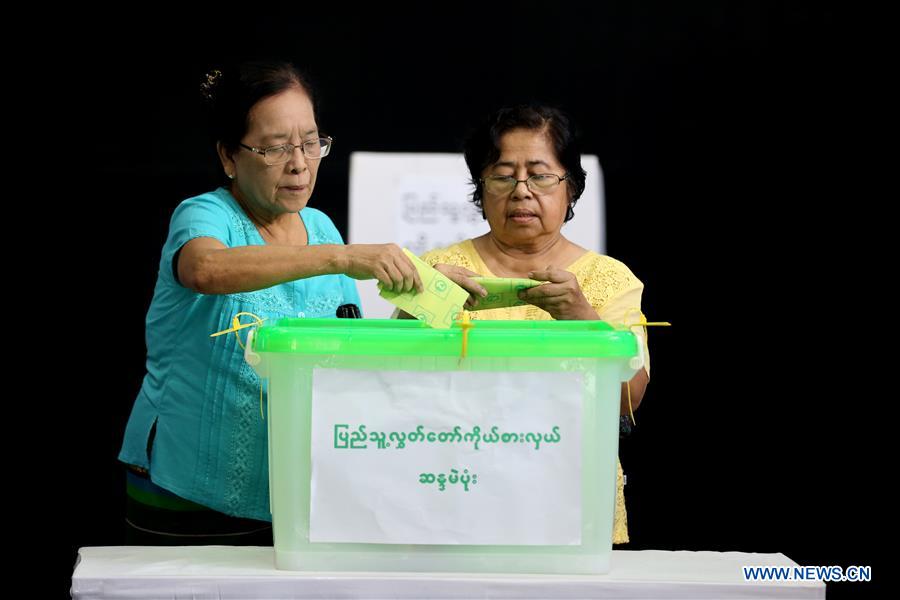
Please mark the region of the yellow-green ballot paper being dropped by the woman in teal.
<svg viewBox="0 0 900 600"><path fill-rule="evenodd" d="M415 290L411 292L397 293L380 289L382 298L425 323L437 329L447 329L453 325L453 320L462 311L469 292L459 287L446 275L434 269L418 256L407 250L403 252L413 262L422 279L425 288L421 294Z"/></svg>

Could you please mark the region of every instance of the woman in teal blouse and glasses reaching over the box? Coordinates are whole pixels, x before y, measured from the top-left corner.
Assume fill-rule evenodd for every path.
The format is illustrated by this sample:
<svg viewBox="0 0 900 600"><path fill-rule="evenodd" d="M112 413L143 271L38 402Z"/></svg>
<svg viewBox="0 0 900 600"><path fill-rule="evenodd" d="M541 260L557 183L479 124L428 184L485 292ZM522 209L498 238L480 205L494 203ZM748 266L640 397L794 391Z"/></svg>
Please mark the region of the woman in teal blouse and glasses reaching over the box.
<svg viewBox="0 0 900 600"><path fill-rule="evenodd" d="M214 71L202 86L227 185L182 202L147 314L147 374L119 459L128 465L128 539L270 544L260 383L234 315L334 317L359 304L354 279L421 290L393 244L344 245L307 206L332 140L287 63Z"/></svg>

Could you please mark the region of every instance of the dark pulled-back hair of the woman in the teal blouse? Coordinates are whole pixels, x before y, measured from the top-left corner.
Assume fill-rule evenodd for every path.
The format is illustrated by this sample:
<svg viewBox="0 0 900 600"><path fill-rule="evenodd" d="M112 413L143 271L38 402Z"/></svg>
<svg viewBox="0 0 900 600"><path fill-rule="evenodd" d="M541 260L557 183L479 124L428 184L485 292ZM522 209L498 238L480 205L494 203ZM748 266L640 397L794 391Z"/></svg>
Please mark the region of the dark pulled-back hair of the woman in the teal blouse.
<svg viewBox="0 0 900 600"><path fill-rule="evenodd" d="M200 93L209 109L212 139L235 152L247 133L250 109L260 100L294 87L306 92L315 111L312 87L289 62L248 61L211 70L200 85Z"/></svg>

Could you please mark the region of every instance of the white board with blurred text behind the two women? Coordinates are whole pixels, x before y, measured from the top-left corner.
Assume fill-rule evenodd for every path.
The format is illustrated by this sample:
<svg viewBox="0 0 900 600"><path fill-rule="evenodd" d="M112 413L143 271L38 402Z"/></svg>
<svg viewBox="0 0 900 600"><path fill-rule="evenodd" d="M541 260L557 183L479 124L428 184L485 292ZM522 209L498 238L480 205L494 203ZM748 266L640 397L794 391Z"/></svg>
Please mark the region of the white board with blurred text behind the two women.
<svg viewBox="0 0 900 600"><path fill-rule="evenodd" d="M587 171L575 218L563 235L605 252L603 171L594 155L583 155ZM393 242L416 255L488 231L471 202L471 176L462 154L354 152L350 155L348 243ZM378 295L375 281L357 282L366 318L388 318L394 306Z"/></svg>

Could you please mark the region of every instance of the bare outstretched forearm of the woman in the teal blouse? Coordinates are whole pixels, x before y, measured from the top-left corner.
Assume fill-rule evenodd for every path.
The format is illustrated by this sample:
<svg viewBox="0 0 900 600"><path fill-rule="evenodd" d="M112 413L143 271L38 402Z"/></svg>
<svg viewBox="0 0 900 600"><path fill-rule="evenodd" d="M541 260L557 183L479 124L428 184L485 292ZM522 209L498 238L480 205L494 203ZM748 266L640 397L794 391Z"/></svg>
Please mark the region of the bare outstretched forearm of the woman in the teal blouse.
<svg viewBox="0 0 900 600"><path fill-rule="evenodd" d="M286 281L343 273L345 246L241 246L192 257L182 284L202 294L233 294Z"/></svg>

